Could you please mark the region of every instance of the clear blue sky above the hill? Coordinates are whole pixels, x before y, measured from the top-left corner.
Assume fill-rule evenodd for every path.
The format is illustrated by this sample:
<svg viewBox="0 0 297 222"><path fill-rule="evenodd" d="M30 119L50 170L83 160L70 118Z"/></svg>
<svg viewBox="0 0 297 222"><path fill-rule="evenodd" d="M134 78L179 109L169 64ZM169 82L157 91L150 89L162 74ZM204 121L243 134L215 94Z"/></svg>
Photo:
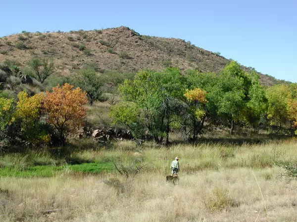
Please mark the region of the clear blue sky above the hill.
<svg viewBox="0 0 297 222"><path fill-rule="evenodd" d="M297 82L297 0L0 0L0 37L128 26Z"/></svg>

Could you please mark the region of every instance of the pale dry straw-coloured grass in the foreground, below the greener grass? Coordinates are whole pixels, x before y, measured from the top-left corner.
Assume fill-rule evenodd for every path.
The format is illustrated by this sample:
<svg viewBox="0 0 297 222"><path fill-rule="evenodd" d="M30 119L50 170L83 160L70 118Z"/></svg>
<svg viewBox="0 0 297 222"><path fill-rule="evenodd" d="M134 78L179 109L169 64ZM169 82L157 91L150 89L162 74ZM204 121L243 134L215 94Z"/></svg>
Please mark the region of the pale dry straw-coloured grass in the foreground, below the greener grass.
<svg viewBox="0 0 297 222"><path fill-rule="evenodd" d="M271 174L266 179L265 174ZM189 222L296 221L296 183L275 180L278 169L181 174L178 185L161 174L130 179L98 177L1 178L1 221ZM102 181L117 177L126 188ZM49 213L46 210L57 209Z"/></svg>

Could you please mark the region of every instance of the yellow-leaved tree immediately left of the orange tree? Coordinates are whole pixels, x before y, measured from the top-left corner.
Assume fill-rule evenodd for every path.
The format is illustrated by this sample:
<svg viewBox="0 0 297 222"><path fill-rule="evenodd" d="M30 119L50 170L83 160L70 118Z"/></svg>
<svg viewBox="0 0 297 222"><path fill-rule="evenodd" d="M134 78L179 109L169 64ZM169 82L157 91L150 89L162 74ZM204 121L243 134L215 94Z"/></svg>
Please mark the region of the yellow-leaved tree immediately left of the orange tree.
<svg viewBox="0 0 297 222"><path fill-rule="evenodd" d="M42 93L28 97L26 91L17 94L18 102L14 116L22 120L23 136L33 143L49 142L49 135L44 129L44 124L40 122L44 97Z"/></svg>

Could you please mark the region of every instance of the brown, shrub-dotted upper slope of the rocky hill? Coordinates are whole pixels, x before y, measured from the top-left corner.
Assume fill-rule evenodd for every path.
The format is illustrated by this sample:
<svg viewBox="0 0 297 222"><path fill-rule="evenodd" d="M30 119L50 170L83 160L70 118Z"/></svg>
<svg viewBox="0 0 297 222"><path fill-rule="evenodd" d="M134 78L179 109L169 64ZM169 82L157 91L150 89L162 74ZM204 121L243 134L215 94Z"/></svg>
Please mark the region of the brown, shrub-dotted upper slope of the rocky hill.
<svg viewBox="0 0 297 222"><path fill-rule="evenodd" d="M53 58L57 72L62 75L71 75L84 66L96 67L99 72L161 71L167 66L179 67L182 72L187 69L219 72L230 62L219 53L199 48L190 41L143 36L123 26L69 33L23 31L0 38L0 62L14 60L22 66L34 57ZM284 82L264 74L260 74L260 80L264 85Z"/></svg>

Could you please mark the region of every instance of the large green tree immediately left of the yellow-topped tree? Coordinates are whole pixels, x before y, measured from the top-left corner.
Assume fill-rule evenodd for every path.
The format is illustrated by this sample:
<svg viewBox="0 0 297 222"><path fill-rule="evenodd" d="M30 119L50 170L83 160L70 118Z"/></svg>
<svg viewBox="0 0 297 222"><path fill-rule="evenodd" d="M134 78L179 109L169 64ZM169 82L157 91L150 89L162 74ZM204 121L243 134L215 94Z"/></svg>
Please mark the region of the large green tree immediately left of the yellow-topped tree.
<svg viewBox="0 0 297 222"><path fill-rule="evenodd" d="M178 69L167 68L161 73L141 71L133 80L119 86L124 102L133 102L142 109L145 125L155 142L161 143L169 131L172 116L179 111L179 98L183 97L185 77Z"/></svg>

